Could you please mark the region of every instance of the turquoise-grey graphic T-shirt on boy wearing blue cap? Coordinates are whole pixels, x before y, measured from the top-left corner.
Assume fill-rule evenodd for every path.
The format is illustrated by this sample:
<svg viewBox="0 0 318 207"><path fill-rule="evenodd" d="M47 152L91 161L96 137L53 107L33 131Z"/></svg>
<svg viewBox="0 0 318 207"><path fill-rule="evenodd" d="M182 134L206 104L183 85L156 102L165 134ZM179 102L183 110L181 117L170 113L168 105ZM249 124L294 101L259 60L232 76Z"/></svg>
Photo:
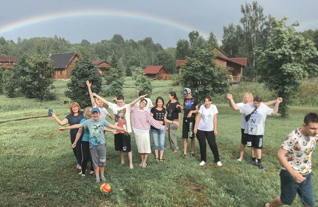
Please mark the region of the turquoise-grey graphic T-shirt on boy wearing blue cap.
<svg viewBox="0 0 318 207"><path fill-rule="evenodd" d="M93 119L87 119L81 124L84 126L84 128L88 128L89 144L96 146L105 143L104 126L109 125L105 119L99 119L97 121L93 121Z"/></svg>

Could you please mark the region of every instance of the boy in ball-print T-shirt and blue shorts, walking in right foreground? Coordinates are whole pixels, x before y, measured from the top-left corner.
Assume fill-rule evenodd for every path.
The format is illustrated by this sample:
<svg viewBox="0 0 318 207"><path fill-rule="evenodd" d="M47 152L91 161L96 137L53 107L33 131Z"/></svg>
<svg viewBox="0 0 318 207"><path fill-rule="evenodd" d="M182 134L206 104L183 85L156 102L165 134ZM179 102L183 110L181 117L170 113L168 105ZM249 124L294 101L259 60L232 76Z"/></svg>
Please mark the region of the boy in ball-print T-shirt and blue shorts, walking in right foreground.
<svg viewBox="0 0 318 207"><path fill-rule="evenodd" d="M315 206L311 158L318 141L318 115L307 114L302 126L290 132L280 146L277 153L282 164L280 196L270 203L264 203L265 207L292 205L296 192L304 206Z"/></svg>

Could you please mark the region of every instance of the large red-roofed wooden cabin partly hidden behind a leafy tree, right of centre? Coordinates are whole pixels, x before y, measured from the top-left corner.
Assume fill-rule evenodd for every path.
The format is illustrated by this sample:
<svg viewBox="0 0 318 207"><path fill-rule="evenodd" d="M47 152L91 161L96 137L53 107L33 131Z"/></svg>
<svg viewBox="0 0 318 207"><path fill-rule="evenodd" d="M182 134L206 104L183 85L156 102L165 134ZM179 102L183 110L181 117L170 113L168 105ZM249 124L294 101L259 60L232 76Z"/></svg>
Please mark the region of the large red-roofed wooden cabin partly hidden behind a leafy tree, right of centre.
<svg viewBox="0 0 318 207"><path fill-rule="evenodd" d="M229 58L229 56L217 46L212 48L216 52L217 57L215 62L222 68L230 67L231 70L227 71L230 76L229 82L239 83L242 81L243 68L247 64L247 58ZM181 64L187 63L187 60L177 60L176 68L179 68L179 74L182 75Z"/></svg>

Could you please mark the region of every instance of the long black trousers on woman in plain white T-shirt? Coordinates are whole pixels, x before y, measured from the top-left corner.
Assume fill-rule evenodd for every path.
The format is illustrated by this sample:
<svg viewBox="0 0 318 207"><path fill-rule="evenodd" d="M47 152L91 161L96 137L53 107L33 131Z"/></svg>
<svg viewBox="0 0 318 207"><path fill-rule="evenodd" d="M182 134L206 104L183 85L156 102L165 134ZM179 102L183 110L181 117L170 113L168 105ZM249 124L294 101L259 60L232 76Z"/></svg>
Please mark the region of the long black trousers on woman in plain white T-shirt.
<svg viewBox="0 0 318 207"><path fill-rule="evenodd" d="M218 154L218 146L217 143L215 142L215 135L214 131L202 131L202 130L197 130L197 139L199 141L200 145L200 153L201 153L201 160L204 162L206 161L206 141L205 138L208 140L208 144L210 146L210 149L212 150L213 156L214 156L214 161L218 162L220 161L219 154Z"/></svg>

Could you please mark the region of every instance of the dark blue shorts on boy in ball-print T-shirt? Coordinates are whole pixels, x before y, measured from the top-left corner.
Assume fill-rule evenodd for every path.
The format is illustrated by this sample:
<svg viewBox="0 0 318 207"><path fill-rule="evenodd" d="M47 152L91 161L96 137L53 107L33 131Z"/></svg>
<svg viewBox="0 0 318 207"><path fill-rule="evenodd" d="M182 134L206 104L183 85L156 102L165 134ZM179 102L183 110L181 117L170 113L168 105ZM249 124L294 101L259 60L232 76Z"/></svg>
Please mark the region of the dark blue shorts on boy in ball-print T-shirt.
<svg viewBox="0 0 318 207"><path fill-rule="evenodd" d="M305 175L306 180L298 183L287 170L280 171L280 200L291 205L296 197L296 192L301 202L306 206L315 206L314 185L311 173Z"/></svg>

